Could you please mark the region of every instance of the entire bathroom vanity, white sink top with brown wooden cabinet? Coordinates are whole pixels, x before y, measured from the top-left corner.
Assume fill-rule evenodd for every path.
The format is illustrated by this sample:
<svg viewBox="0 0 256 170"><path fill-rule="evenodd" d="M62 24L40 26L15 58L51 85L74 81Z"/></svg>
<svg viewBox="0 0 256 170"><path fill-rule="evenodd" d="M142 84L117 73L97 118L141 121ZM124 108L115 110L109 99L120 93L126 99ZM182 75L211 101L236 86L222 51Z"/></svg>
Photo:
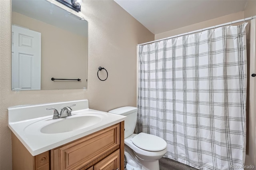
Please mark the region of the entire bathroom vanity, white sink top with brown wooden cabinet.
<svg viewBox="0 0 256 170"><path fill-rule="evenodd" d="M52 111L46 110L73 104L76 107L72 107L72 116L60 120L53 120ZM12 168L124 170L124 118L89 109L87 100L10 107ZM79 125L82 122L84 125Z"/></svg>

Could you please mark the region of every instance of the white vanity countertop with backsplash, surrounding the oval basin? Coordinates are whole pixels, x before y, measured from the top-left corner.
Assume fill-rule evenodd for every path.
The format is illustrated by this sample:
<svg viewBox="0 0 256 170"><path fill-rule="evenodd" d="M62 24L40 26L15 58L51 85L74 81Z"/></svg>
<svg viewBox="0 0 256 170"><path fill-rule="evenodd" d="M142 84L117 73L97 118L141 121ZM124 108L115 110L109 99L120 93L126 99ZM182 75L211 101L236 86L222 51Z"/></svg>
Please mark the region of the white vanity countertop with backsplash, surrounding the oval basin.
<svg viewBox="0 0 256 170"><path fill-rule="evenodd" d="M48 107L54 107L60 110L59 108L72 104L76 104L76 106L72 107L73 111L72 116L70 117L52 119L53 111L46 110ZM81 115L86 114L102 115L103 119L95 125L69 132L46 134L40 131L45 124L61 121L61 119L63 120L70 119L72 117L80 117ZM22 142L22 144L24 144L32 156L36 156L103 128L122 122L124 121L124 118L125 116L122 115L115 115L89 109L88 100L48 103L42 105L25 105L8 108L8 127ZM66 125L66 128L68 126L69 125Z"/></svg>

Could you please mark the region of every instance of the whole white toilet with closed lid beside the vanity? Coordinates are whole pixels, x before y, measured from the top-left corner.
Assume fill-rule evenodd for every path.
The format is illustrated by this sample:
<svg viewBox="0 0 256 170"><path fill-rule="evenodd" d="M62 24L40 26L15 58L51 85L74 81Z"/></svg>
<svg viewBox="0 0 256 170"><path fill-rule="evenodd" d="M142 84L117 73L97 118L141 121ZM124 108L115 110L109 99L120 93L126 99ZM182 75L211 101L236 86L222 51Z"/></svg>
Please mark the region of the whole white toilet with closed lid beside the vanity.
<svg viewBox="0 0 256 170"><path fill-rule="evenodd" d="M126 116L124 120L124 155L126 170L159 170L158 160L166 153L166 141L146 133L134 134L137 121L136 107L120 107L109 111Z"/></svg>

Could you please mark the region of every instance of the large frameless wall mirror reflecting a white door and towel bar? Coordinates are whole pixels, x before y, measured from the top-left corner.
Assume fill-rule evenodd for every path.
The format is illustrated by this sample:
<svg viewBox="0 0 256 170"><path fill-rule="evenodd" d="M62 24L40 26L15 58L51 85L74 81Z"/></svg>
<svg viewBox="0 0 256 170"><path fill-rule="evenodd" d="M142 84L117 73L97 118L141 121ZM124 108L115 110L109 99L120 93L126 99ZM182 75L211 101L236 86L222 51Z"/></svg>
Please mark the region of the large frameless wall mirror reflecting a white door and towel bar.
<svg viewBox="0 0 256 170"><path fill-rule="evenodd" d="M47 0L12 0L12 90L87 87L87 42L86 20Z"/></svg>

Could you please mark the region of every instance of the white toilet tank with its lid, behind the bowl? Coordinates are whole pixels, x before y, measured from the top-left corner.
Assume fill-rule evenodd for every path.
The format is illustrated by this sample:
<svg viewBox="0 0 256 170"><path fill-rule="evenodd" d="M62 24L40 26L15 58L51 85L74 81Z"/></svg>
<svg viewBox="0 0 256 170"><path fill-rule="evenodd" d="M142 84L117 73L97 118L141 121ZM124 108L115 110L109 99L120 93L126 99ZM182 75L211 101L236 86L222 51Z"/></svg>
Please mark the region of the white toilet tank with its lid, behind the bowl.
<svg viewBox="0 0 256 170"><path fill-rule="evenodd" d="M126 116L124 119L124 138L132 135L137 121L137 107L125 106L111 110L108 113Z"/></svg>

